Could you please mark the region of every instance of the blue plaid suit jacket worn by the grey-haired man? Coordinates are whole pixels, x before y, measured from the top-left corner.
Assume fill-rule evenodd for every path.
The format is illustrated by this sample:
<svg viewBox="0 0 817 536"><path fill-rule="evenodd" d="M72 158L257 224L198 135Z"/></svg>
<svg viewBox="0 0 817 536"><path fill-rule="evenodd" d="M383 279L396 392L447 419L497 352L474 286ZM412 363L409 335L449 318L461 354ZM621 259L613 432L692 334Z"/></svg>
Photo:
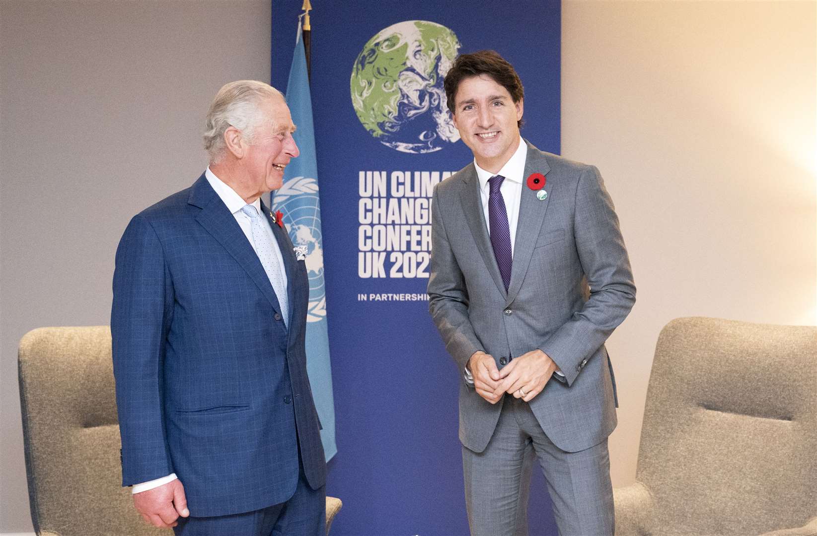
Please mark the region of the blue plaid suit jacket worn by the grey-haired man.
<svg viewBox="0 0 817 536"><path fill-rule="evenodd" d="M269 210L263 206L269 217ZM306 376L309 283L272 224L288 278L270 281L204 175L136 215L119 242L111 312L123 485L172 472L192 516L283 503L326 480Z"/></svg>

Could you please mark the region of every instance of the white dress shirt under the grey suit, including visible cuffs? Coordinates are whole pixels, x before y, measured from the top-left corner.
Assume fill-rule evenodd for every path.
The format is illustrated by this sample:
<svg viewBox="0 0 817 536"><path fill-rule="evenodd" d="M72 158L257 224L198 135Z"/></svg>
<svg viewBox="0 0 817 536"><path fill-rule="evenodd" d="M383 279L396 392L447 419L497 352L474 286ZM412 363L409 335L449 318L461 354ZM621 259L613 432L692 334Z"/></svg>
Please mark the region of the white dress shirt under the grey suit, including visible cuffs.
<svg viewBox="0 0 817 536"><path fill-rule="evenodd" d="M480 181L480 198L482 199L482 213L485 216L485 225L488 226L488 234L491 234L491 226L488 215L488 200L491 197L491 185L488 180L493 175L502 175L505 180L502 181L502 186L499 187L499 192L502 193L502 200L505 202L505 210L508 216L508 230L511 233L511 259L513 258L514 246L516 245L516 224L519 223L519 206L522 202L522 186L525 184L527 178L525 175L525 161L528 159L528 144L522 137L519 138L519 147L511 155L505 165L498 173L491 173L485 171L476 163L474 159L474 167L476 168L476 177ZM564 376L561 370L556 370L556 374ZM465 381L467 383L474 383L474 376L468 366L465 367Z"/></svg>

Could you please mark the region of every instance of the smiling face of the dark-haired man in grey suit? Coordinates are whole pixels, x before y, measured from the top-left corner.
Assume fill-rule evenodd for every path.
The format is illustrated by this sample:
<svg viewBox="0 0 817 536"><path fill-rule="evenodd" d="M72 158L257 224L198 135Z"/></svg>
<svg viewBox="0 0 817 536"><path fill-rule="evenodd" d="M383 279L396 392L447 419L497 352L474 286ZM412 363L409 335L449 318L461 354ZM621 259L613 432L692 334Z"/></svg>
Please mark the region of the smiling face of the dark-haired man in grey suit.
<svg viewBox="0 0 817 536"><path fill-rule="evenodd" d="M497 173L519 147L523 100L514 102L504 86L487 74L459 82L454 126L485 171Z"/></svg>

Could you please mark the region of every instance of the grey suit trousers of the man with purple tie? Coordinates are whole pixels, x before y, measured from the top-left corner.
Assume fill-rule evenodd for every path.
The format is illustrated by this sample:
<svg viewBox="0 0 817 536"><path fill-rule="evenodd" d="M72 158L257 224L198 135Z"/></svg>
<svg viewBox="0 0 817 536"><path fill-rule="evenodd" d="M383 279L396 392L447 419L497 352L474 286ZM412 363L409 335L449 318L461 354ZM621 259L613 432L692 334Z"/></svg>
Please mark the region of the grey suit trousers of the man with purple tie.
<svg viewBox="0 0 817 536"><path fill-rule="evenodd" d="M538 458L560 536L613 534L607 439L565 452L547 438L527 402L506 395L480 453L462 447L468 524L473 536L542 534L528 529L530 472Z"/></svg>

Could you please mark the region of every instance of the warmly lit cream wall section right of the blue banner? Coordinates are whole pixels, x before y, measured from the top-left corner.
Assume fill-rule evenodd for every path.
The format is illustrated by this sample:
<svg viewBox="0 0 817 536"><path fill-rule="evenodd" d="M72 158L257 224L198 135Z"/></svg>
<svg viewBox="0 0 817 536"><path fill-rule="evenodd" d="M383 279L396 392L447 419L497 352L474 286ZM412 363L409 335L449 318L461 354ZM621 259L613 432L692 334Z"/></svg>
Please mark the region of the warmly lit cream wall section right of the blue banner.
<svg viewBox="0 0 817 536"><path fill-rule="evenodd" d="M817 323L817 3L562 6L562 153L605 177L638 288L608 345L626 485L667 321Z"/></svg>

